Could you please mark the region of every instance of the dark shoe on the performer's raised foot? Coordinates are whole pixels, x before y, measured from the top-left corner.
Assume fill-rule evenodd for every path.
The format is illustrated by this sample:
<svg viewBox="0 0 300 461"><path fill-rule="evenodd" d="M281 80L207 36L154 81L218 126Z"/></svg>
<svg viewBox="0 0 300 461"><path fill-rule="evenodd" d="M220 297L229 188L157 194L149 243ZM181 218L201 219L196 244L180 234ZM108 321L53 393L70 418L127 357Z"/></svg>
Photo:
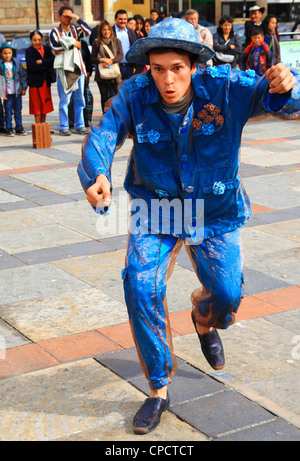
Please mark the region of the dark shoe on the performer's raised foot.
<svg viewBox="0 0 300 461"><path fill-rule="evenodd" d="M193 314L192 321L197 332L204 357L214 370L221 370L225 365L225 355L219 333L215 328L213 328L205 335L200 335L198 333Z"/></svg>

